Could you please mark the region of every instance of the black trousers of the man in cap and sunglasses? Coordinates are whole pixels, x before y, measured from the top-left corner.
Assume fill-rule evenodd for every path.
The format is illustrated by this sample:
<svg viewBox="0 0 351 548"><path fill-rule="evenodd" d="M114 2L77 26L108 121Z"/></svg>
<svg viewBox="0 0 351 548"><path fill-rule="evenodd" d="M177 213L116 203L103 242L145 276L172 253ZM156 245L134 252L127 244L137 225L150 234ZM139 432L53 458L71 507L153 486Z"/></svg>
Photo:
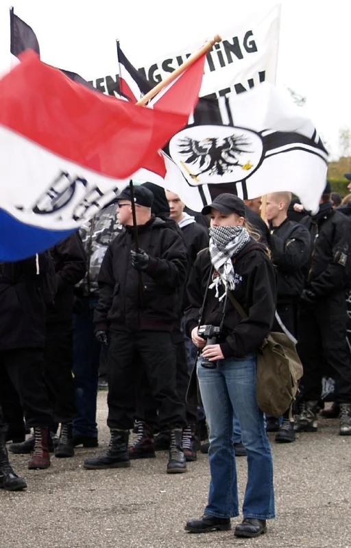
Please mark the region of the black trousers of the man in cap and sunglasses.
<svg viewBox="0 0 351 548"><path fill-rule="evenodd" d="M140 365L140 367L138 367ZM156 400L162 429L186 425L176 391L175 354L168 332L113 332L108 352L108 420L112 429L134 425L137 375L145 376Z"/></svg>

